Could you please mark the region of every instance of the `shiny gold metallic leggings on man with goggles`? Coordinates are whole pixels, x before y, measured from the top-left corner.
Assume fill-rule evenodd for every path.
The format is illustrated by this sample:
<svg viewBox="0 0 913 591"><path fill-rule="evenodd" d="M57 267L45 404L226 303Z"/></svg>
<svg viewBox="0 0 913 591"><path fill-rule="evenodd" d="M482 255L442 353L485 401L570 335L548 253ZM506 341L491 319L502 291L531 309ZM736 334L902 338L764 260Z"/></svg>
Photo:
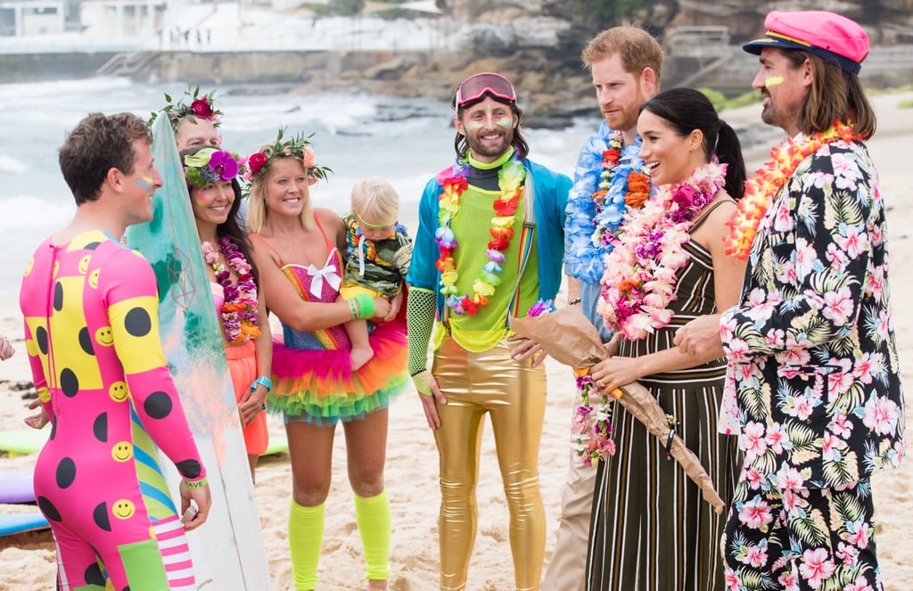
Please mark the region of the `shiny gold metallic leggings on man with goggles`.
<svg viewBox="0 0 913 591"><path fill-rule="evenodd" d="M482 421L491 416L495 450L510 511L510 553L518 591L539 589L545 554L545 510L539 492L539 440L545 417L545 369L514 361L506 341L481 353L447 338L432 374L447 398L437 406L441 471L441 589L466 588L476 540Z"/></svg>

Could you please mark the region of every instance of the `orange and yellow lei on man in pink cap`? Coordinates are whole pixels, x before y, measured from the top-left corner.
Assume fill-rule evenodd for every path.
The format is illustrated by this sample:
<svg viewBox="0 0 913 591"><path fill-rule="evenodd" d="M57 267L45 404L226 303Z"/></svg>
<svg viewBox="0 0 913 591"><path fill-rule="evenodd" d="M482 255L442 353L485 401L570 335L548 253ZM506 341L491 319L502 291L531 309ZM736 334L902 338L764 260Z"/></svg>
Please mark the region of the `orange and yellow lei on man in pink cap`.
<svg viewBox="0 0 913 591"><path fill-rule="evenodd" d="M825 132L813 133L808 137L788 138L771 149L771 160L745 182L745 195L739 200L739 205L727 222L729 236L723 237L726 254L742 260L748 259L751 243L758 234L758 227L761 226L761 220L771 206L773 197L805 158L830 142L862 140L862 136L854 131L851 123L852 121L847 124L834 120L834 124Z"/></svg>

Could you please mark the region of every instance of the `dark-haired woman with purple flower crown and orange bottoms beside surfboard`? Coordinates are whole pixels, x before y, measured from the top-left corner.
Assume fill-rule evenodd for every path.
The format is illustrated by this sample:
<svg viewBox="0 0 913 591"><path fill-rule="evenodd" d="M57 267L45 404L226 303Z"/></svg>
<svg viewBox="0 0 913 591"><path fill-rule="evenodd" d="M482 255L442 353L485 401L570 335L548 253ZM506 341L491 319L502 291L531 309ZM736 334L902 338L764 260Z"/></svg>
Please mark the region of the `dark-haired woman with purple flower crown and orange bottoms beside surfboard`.
<svg viewBox="0 0 913 591"><path fill-rule="evenodd" d="M239 165L233 154L210 147L190 148L181 157L253 478L269 442L264 411L273 348L257 267L238 222Z"/></svg>

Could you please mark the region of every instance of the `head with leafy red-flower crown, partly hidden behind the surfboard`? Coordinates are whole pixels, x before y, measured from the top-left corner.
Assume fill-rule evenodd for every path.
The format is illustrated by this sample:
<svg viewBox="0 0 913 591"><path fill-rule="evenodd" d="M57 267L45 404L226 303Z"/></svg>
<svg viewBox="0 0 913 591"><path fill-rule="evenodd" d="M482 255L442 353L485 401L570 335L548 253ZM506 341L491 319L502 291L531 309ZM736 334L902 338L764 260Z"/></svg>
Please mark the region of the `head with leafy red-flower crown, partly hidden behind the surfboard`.
<svg viewBox="0 0 913 591"><path fill-rule="evenodd" d="M149 124L152 125L160 114L167 115L179 153L188 148L218 148L222 145L222 134L218 132L222 111L215 109L215 90L200 94L200 87L188 88L181 100L172 102L168 94L165 94L165 100L168 104L161 111L152 112Z"/></svg>

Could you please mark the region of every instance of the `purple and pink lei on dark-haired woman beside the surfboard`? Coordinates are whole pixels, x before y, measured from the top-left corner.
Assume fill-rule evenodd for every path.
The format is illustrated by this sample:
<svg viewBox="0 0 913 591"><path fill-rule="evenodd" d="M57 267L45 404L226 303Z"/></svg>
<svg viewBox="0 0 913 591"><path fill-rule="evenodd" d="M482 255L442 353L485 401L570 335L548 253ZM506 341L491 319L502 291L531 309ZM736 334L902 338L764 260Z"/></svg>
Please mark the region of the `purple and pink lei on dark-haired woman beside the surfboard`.
<svg viewBox="0 0 913 591"><path fill-rule="evenodd" d="M222 303L222 325L225 327L228 343L245 343L260 336L257 327L257 284L251 274L250 263L240 248L228 237L219 238L219 250L237 274L237 283L232 284L231 273L219 261L213 245L208 241L200 245L203 258L215 270L215 280L225 290Z"/></svg>

